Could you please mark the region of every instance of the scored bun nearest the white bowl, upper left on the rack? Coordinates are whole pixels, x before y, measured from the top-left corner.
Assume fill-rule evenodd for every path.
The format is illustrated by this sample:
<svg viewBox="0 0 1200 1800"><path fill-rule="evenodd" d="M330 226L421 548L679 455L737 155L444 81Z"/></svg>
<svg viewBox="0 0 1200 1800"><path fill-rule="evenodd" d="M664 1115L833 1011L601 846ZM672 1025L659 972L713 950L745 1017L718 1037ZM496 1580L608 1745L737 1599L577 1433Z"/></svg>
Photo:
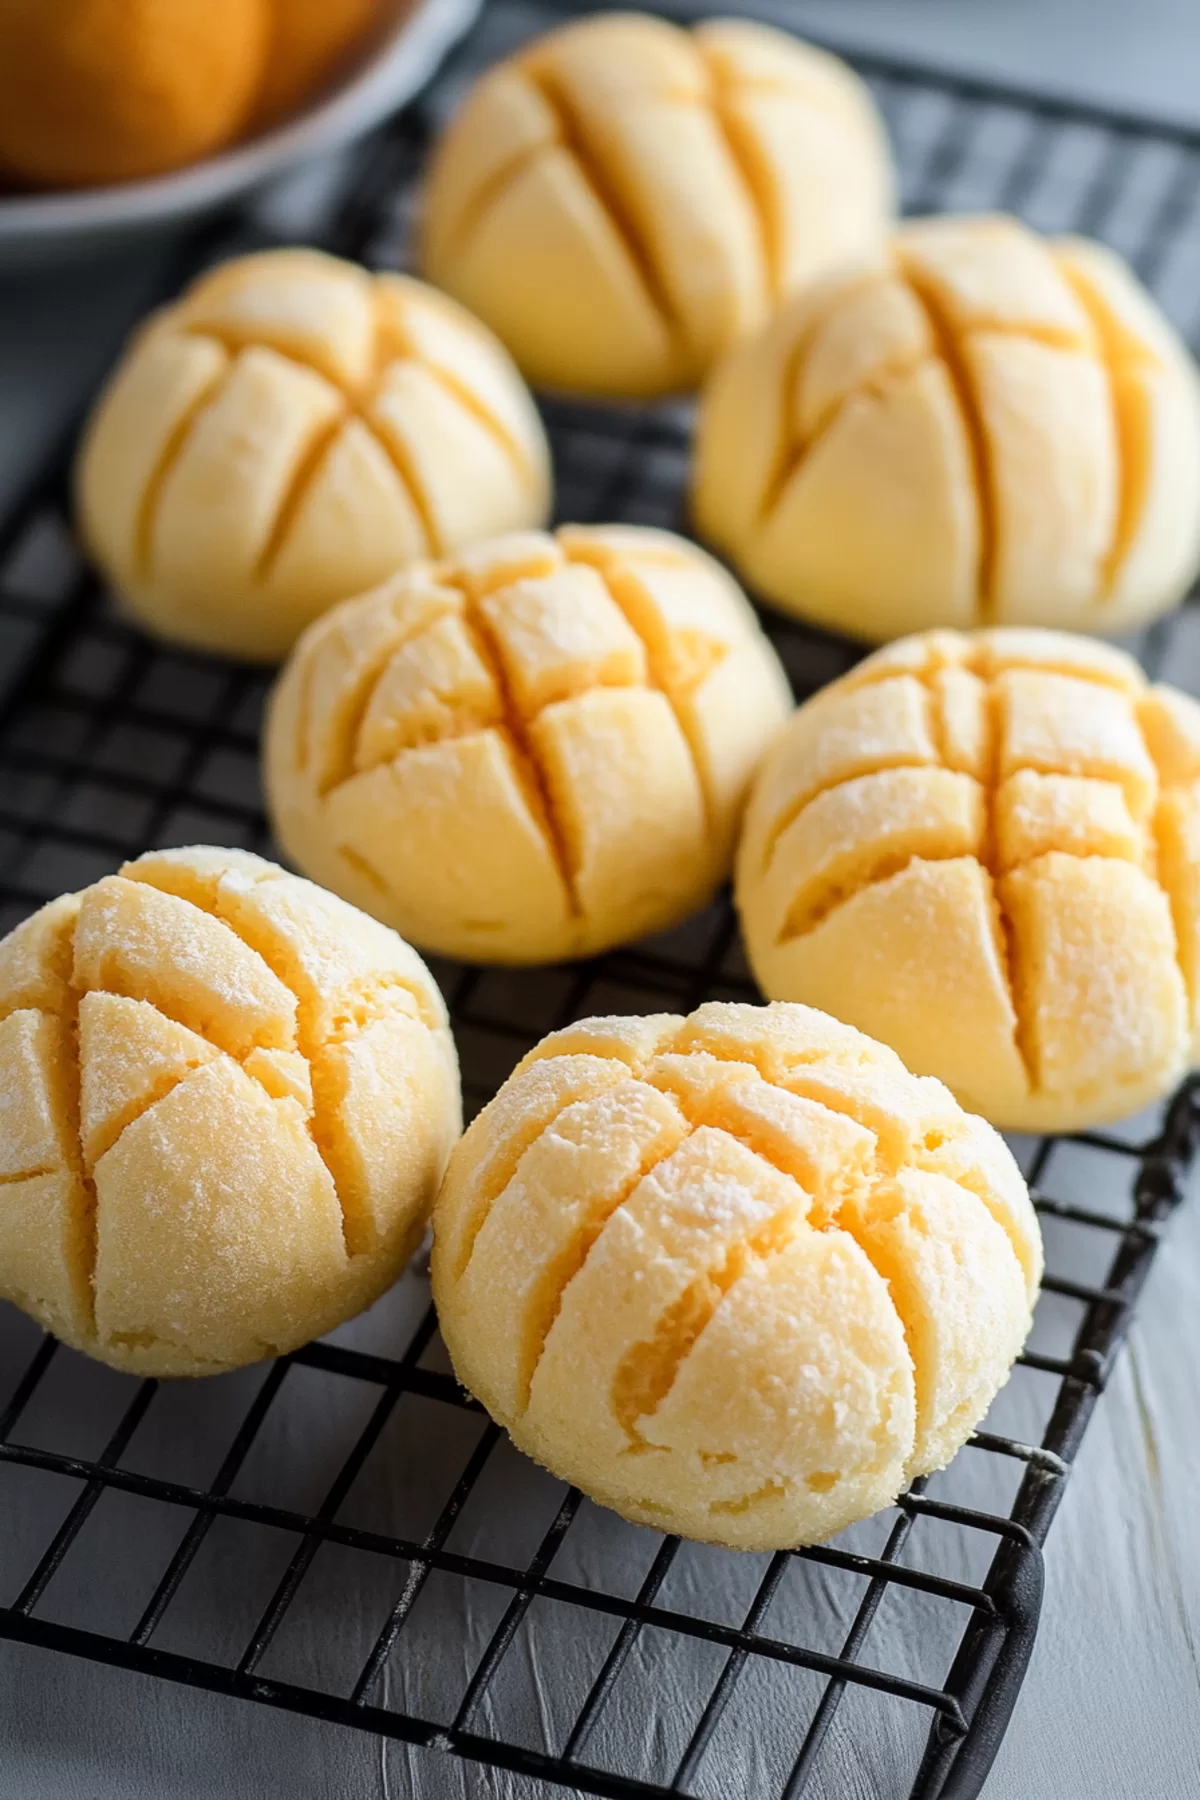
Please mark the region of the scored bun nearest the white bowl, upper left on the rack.
<svg viewBox="0 0 1200 1800"><path fill-rule="evenodd" d="M277 659L405 563L542 524L551 472L520 376L453 301L268 250L135 337L77 491L95 562L151 630Z"/></svg>

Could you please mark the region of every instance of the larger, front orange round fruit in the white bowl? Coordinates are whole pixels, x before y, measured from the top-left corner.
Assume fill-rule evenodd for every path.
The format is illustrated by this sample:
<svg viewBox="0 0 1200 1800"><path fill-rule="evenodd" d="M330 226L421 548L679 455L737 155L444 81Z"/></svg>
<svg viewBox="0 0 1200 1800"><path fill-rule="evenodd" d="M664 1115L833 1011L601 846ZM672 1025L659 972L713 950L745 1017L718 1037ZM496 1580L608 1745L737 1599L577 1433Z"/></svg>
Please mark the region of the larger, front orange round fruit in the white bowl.
<svg viewBox="0 0 1200 1800"><path fill-rule="evenodd" d="M268 0L0 0L0 166L77 187L194 162L250 115L268 29Z"/></svg>

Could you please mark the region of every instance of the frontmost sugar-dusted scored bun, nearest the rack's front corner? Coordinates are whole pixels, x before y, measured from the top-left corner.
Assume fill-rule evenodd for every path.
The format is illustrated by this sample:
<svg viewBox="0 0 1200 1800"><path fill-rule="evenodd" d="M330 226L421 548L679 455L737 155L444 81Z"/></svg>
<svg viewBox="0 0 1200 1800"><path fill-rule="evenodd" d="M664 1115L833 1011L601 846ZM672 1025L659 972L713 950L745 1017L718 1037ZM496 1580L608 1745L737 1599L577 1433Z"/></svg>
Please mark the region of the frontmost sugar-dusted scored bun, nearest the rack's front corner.
<svg viewBox="0 0 1200 1800"><path fill-rule="evenodd" d="M493 1418L628 1519L739 1550L950 1462L1040 1271L1004 1141L808 1006L552 1033L434 1210L443 1337Z"/></svg>

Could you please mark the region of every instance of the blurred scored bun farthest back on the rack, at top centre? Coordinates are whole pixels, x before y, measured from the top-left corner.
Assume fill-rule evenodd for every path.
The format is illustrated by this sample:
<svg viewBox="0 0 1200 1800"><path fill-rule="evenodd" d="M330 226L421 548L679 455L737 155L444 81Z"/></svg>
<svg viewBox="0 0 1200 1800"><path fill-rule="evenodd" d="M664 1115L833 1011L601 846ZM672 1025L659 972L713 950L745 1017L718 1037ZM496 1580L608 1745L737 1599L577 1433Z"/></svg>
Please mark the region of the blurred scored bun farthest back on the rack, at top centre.
<svg viewBox="0 0 1200 1800"><path fill-rule="evenodd" d="M837 58L748 20L612 13L477 83L434 155L421 257L533 382L664 394L891 209L880 119Z"/></svg>

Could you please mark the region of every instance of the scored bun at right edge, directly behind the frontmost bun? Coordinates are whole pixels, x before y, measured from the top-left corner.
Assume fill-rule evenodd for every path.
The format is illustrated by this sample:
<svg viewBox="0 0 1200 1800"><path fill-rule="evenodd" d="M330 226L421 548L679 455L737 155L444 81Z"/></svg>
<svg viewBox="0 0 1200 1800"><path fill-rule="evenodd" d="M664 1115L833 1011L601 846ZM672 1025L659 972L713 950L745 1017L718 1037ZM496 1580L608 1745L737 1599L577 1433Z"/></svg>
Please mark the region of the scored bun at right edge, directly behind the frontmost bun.
<svg viewBox="0 0 1200 1800"><path fill-rule="evenodd" d="M930 632L799 709L738 850L750 963L1013 1130L1200 1048L1200 706L1058 632Z"/></svg>

